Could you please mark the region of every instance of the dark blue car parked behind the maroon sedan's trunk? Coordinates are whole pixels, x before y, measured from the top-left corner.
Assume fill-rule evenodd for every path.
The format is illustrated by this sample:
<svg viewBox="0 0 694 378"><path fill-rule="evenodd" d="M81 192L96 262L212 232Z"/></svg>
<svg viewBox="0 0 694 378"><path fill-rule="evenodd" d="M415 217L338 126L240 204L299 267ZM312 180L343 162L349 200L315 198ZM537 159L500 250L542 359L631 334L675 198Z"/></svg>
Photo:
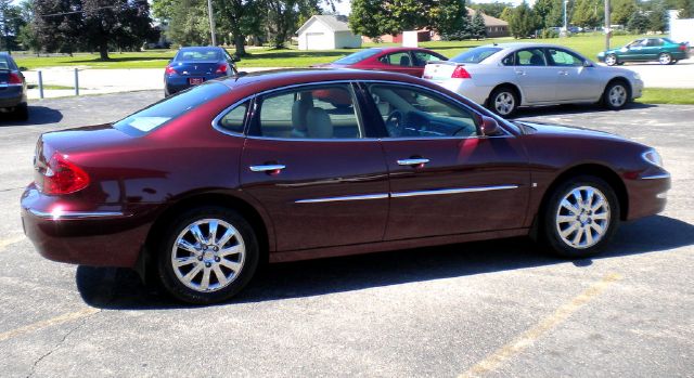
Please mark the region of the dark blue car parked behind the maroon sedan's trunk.
<svg viewBox="0 0 694 378"><path fill-rule="evenodd" d="M207 80L236 75L234 63L237 61L222 48L181 48L164 70L164 94L171 95Z"/></svg>

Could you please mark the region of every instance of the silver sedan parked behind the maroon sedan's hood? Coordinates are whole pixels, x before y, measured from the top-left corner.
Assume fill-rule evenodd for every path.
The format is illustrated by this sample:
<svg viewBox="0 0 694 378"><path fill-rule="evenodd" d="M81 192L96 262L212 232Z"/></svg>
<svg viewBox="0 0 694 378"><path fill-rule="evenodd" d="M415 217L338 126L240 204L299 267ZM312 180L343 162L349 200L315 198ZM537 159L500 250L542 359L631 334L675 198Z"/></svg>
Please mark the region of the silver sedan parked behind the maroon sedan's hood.
<svg viewBox="0 0 694 378"><path fill-rule="evenodd" d="M427 64L424 79L503 117L518 106L602 103L620 109L643 89L634 71L599 66L573 50L542 43L471 49L448 62Z"/></svg>

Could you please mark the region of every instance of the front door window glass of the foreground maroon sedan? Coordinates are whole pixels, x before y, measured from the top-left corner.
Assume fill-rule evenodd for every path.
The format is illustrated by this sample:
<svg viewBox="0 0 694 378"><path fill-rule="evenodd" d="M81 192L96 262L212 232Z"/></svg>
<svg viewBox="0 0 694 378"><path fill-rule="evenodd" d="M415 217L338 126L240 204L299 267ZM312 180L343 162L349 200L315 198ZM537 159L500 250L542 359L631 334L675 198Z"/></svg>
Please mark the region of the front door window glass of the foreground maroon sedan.
<svg viewBox="0 0 694 378"><path fill-rule="evenodd" d="M477 117L438 95L410 87L372 84L373 99L390 138L477 135Z"/></svg>

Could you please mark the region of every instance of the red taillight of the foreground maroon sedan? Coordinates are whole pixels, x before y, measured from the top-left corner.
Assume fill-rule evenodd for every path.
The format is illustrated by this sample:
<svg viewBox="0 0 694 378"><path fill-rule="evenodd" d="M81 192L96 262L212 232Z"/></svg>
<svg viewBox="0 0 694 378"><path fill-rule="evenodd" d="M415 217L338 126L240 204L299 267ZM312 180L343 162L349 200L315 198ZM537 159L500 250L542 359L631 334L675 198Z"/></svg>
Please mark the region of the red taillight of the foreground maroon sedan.
<svg viewBox="0 0 694 378"><path fill-rule="evenodd" d="M67 156L55 153L43 172L41 192L48 195L69 194L89 185L89 175L67 160Z"/></svg>

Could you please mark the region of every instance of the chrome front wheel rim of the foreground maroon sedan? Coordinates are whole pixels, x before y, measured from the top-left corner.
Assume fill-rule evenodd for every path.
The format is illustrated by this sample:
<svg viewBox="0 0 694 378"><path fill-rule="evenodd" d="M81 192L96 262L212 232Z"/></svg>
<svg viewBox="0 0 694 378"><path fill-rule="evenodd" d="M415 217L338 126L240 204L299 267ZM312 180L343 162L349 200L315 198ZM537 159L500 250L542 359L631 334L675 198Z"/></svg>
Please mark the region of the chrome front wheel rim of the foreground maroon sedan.
<svg viewBox="0 0 694 378"><path fill-rule="evenodd" d="M611 221L607 197L595 187L579 186L567 193L556 211L556 231L566 245L586 249L607 233Z"/></svg>

